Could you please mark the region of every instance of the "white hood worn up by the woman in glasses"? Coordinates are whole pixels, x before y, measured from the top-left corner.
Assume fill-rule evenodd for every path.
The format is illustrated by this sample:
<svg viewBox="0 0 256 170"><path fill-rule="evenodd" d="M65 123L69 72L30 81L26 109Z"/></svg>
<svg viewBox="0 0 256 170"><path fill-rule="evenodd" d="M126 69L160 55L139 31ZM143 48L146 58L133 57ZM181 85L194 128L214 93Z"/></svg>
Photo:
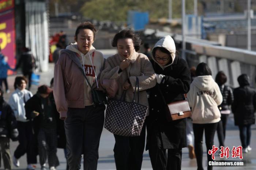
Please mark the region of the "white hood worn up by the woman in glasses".
<svg viewBox="0 0 256 170"><path fill-rule="evenodd" d="M167 50L170 52L171 57L172 57L172 58L171 58L171 59L172 59L171 63L169 63L169 64L167 64L167 65L165 65L165 66L162 66L161 64L159 64L159 63L155 60L155 56L153 56L153 50L154 50L154 48L156 48L156 47L163 47L163 48L167 49ZM168 67L168 66L170 66L170 65L173 64L173 61L174 61L174 58L175 58L176 47L175 47L174 40L173 40L173 38L172 38L170 35L166 35L165 37L161 38L161 39L155 44L154 48L153 48L152 51L151 51L152 56L153 56L152 59L153 59L162 69L164 69L164 68L166 68L166 67Z"/></svg>

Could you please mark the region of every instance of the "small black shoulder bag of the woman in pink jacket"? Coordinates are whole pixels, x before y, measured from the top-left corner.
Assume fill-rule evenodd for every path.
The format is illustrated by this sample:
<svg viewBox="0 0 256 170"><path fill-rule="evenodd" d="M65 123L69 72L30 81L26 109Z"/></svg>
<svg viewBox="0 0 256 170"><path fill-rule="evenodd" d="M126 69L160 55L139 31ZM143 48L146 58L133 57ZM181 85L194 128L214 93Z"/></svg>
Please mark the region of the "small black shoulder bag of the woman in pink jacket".
<svg viewBox="0 0 256 170"><path fill-rule="evenodd" d="M83 69L80 68L80 70L82 71L82 74L83 74L84 78L86 79L87 83L91 87L91 98L93 100L93 105L96 106L96 105L105 105L105 104L107 104L106 94L101 90L93 90L91 84L89 83L89 80L87 79L86 75L83 72Z"/></svg>

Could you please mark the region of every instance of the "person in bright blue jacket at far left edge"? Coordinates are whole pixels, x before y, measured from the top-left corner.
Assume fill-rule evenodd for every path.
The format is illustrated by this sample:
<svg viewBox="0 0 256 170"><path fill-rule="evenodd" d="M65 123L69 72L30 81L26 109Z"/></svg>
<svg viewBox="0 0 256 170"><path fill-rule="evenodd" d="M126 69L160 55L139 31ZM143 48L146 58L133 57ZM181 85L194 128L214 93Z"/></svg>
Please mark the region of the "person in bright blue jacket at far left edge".
<svg viewBox="0 0 256 170"><path fill-rule="evenodd" d="M3 87L3 83L4 83L5 91L7 93L10 93L10 90L8 88L8 82L7 82L8 69L15 71L15 69L12 69L10 67L10 65L7 63L7 57L4 56L4 54L1 52L1 48L0 48L0 86Z"/></svg>

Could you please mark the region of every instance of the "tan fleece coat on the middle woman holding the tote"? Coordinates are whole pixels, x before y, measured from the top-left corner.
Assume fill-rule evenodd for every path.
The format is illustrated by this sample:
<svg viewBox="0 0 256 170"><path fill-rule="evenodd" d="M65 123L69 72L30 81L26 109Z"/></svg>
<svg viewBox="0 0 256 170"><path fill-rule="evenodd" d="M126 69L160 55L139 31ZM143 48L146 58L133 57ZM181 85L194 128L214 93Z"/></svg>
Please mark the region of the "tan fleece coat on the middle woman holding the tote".
<svg viewBox="0 0 256 170"><path fill-rule="evenodd" d="M124 71L118 73L121 64L125 58L119 54L108 57L105 62L105 69L101 73L103 79L116 79L119 84L119 90L116 99L120 99L123 92L123 84L129 78L131 86L128 88L125 101L132 102L133 92L136 84L136 77L139 79L139 103L148 106L147 92L148 88L152 88L156 84L154 69L147 56L142 53L134 52L131 56L131 64ZM137 95L135 96L137 102Z"/></svg>

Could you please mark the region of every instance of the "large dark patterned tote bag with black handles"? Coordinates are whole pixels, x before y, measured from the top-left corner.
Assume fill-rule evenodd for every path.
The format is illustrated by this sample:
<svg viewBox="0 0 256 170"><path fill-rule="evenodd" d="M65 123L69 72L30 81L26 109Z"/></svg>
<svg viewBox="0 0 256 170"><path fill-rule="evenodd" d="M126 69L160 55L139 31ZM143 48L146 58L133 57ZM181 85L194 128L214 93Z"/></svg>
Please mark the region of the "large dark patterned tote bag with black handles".
<svg viewBox="0 0 256 170"><path fill-rule="evenodd" d="M136 88L138 88L138 101L135 102ZM104 127L111 133L120 136L140 136L142 127L147 115L148 106L139 104L139 79L136 78L136 85L133 94L133 101L123 101L126 91L121 99L108 101ZM124 97L125 98L125 97Z"/></svg>

